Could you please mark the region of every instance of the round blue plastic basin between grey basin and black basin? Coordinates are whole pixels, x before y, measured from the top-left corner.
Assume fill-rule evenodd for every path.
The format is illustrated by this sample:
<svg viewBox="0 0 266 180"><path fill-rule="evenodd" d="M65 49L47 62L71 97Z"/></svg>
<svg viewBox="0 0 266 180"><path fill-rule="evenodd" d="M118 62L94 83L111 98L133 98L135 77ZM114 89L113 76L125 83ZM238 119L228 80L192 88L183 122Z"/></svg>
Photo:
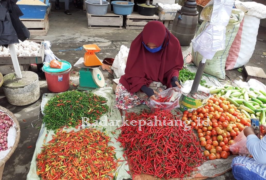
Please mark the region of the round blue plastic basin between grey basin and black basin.
<svg viewBox="0 0 266 180"><path fill-rule="evenodd" d="M128 4L117 4L117 2L128 3ZM133 11L133 2L127 1L112 1L111 4L113 5L114 14L117 15L130 15Z"/></svg>

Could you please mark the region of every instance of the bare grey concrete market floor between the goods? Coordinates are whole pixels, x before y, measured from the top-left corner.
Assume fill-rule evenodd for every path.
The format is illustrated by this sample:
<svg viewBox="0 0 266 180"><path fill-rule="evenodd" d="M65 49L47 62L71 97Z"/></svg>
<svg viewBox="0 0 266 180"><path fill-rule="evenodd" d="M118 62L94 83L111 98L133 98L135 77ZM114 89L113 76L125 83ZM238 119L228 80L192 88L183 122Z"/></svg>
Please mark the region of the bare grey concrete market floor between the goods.
<svg viewBox="0 0 266 180"><path fill-rule="evenodd" d="M52 4L54 7L54 3ZM59 50L76 49L84 44L97 44L101 48L101 52L97 53L100 59L110 57L114 58L119 52L121 45L126 45L130 47L131 41L141 32L140 30L110 30L110 29L88 29L86 14L82 10L76 9L72 4L70 4L70 11L72 15L64 14L64 10L56 11L52 7L52 11L49 14L49 26L47 36L32 36L34 39L45 39L50 41L52 44L51 50L54 54L65 61L72 64L72 71L78 72L78 68L73 67L74 63L83 57L85 51L65 51L59 52ZM61 4L61 8L64 7L64 3ZM266 57L263 56L263 52L266 52L266 34L265 28L259 29L259 35L257 37L257 44L255 52L250 59L248 64L262 67L266 69ZM191 52L191 46L182 47L183 55L187 55ZM34 70L34 67L32 67ZM107 71L103 72L107 86L110 86L111 79L113 76ZM226 74L231 79L243 79L245 81L245 73L238 72L237 70L227 71ZM71 73L72 81L78 84L78 73ZM47 84L45 79L39 79L40 92L51 93L47 89ZM70 88L75 88L70 85ZM41 97L38 101L27 106L13 106L7 102L7 99L3 93L2 88L0 88L0 105L9 109L13 112L19 119L21 127L20 142L16 148L14 154L5 164L5 169L3 173L3 180L22 180L26 179L27 173L30 168L30 161L35 149L35 143L39 135L39 130L37 127L41 126L41 116L40 114L40 103ZM39 119L38 119L39 118ZM25 119L27 122L23 122ZM38 119L38 121L33 122L37 125L35 127L31 126L31 122ZM27 148L32 145L32 148ZM209 178L219 179L219 180L232 180L234 179L231 171L227 172L219 177Z"/></svg>

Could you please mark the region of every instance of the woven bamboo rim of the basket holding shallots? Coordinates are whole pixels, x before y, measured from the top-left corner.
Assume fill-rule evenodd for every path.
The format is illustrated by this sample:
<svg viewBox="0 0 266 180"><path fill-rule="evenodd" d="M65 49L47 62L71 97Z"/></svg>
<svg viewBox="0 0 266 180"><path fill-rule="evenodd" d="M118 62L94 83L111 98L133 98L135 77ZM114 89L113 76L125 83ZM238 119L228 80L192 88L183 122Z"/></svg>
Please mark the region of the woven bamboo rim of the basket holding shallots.
<svg viewBox="0 0 266 180"><path fill-rule="evenodd" d="M6 155L6 157L3 158L2 160L0 160L0 180L1 180L2 179L2 175L3 175L3 171L4 171L4 167L5 167L5 163L11 157L11 155L14 153L16 147L18 146L18 142L19 142L19 138L20 138L20 126L19 126L18 119L16 118L16 116L12 112L10 112L8 109L6 109L6 108L4 108L2 106L0 106L0 110L3 111L3 112L5 112L6 114L8 114L10 116L10 118L14 121L14 123L16 124L16 138L15 138L15 143L12 146L12 148L10 149L9 153Z"/></svg>

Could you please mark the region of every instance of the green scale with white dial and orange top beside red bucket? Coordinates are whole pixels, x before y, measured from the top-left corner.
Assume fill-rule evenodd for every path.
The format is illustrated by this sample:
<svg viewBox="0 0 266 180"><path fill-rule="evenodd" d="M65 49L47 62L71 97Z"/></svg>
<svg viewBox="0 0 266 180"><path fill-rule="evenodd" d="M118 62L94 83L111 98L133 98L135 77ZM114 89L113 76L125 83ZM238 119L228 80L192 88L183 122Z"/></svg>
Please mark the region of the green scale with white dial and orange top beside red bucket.
<svg viewBox="0 0 266 180"><path fill-rule="evenodd" d="M101 49L96 44L87 44L83 46L86 50L84 58L80 58L75 64L75 67L81 67L79 71L79 81L77 89L88 91L105 86L105 80L99 67L103 65L95 52Z"/></svg>

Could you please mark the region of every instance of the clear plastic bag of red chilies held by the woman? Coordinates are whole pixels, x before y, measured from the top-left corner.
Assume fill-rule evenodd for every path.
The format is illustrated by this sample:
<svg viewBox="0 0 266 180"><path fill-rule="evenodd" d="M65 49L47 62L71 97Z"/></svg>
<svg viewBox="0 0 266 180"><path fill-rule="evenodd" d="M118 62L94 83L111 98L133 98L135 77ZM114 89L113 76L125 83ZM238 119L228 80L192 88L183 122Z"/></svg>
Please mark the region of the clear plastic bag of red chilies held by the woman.
<svg viewBox="0 0 266 180"><path fill-rule="evenodd" d="M179 99L182 95L182 90L178 87L168 88L160 93L160 96L155 95L157 100L150 100L150 108L152 112L156 110L167 110L179 108Z"/></svg>

